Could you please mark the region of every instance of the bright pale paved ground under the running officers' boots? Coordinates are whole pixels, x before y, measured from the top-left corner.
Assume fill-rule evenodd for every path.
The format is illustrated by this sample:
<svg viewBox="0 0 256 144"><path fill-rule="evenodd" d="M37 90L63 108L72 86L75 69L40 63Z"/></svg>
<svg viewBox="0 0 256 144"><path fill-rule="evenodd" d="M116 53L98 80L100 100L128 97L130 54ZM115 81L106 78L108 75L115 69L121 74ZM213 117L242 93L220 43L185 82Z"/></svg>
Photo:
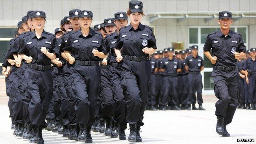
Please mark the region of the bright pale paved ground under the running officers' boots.
<svg viewBox="0 0 256 144"><path fill-rule="evenodd" d="M213 101L213 100L211 100ZM0 97L0 143L26 144L28 140L12 135L8 117L7 98ZM256 110L237 110L233 122L227 126L231 137L221 137L215 132L215 103L207 102L206 111L146 111L142 127L142 139L146 144L238 144L238 138L256 139ZM126 135L129 132L126 130ZM70 141L57 133L43 130L45 144L82 144ZM118 138L92 133L93 143L128 144ZM255 142L254 142L255 143ZM253 144L253 143L250 143Z"/></svg>

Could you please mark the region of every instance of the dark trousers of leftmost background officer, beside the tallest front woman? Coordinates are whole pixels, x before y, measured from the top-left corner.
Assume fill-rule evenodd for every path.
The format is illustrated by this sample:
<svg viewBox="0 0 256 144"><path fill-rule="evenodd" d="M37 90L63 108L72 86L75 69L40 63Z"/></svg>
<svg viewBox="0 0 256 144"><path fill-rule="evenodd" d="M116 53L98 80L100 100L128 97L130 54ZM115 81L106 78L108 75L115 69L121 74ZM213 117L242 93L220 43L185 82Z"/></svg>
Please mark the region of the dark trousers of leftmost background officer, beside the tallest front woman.
<svg viewBox="0 0 256 144"><path fill-rule="evenodd" d="M149 99L148 99L148 105L149 106L155 106L156 105L156 101L155 101L155 83L156 83L156 77L155 75L152 73L151 74L151 90L150 90L150 94L149 94Z"/></svg>

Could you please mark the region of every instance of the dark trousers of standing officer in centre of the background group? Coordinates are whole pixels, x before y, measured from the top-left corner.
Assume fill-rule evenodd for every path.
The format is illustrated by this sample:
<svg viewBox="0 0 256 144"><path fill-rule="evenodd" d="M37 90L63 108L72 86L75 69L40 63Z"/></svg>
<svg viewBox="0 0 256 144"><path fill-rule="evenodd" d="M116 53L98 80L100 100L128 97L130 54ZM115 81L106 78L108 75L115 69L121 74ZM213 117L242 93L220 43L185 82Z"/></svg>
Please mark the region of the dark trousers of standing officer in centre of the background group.
<svg viewBox="0 0 256 144"><path fill-rule="evenodd" d="M164 94L162 97L162 105L176 105L178 101L178 77L167 75L164 78ZM168 103L169 102L169 103Z"/></svg>

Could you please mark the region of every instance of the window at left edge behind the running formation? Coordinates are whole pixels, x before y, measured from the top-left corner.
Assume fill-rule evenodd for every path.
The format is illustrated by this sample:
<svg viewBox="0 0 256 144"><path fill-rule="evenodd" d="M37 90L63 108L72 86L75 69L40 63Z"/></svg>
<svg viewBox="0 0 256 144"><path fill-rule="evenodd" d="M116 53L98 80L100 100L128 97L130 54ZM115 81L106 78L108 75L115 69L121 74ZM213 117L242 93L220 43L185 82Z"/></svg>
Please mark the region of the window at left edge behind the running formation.
<svg viewBox="0 0 256 144"><path fill-rule="evenodd" d="M0 27L0 75L2 75L2 63L5 59L4 55L9 49L9 41L14 38L16 30L17 28L14 27Z"/></svg>

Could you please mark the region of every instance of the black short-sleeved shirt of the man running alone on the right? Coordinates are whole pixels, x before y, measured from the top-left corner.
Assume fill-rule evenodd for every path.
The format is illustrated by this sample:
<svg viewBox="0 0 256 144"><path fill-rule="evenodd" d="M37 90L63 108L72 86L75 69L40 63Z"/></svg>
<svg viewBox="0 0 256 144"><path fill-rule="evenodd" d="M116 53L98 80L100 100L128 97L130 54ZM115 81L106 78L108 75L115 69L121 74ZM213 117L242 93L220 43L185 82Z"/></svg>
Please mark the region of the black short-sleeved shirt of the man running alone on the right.
<svg viewBox="0 0 256 144"><path fill-rule="evenodd" d="M209 34L203 50L210 51L211 48L213 48L212 55L217 57L217 62L214 64L216 66L236 66L237 60L233 53L246 52L241 34L232 30L226 37L220 30Z"/></svg>

